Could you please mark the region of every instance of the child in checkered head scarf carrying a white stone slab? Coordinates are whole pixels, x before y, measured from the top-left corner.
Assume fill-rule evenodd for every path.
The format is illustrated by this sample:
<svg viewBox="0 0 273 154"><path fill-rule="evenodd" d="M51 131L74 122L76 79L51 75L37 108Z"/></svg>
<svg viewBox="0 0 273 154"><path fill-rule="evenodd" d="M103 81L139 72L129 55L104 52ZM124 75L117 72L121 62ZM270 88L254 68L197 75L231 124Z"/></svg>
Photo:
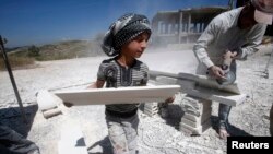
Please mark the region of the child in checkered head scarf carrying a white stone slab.
<svg viewBox="0 0 273 154"><path fill-rule="evenodd" d="M104 37L103 50L110 59L104 60L93 88L143 86L149 80L149 68L136 60L144 52L151 36L150 22L141 14L124 14L111 24ZM106 122L115 154L138 153L138 107L135 104L106 105Z"/></svg>

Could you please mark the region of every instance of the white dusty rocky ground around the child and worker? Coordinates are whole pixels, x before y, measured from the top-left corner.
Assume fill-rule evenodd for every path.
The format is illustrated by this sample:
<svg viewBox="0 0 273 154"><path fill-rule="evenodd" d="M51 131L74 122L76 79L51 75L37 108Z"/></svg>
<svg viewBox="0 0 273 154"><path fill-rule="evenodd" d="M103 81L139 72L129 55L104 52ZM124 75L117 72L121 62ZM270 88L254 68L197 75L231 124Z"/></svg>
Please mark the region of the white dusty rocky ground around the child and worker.
<svg viewBox="0 0 273 154"><path fill-rule="evenodd" d="M272 45L261 46L260 51L247 61L238 61L237 79L242 93L248 94L244 104L232 109L229 122L233 135L268 137L269 112L273 103L273 59L269 67L269 79L264 69L272 52ZM35 67L14 70L22 102L25 106L27 123L22 121L17 100L9 75L0 72L0 120L27 139L34 141L41 154L57 154L62 128L80 126L90 154L111 153L104 106L75 106L63 108L63 114L45 119L38 110L35 94L39 90L85 88L96 79L99 62L106 57L90 57L71 60L37 62ZM141 58L151 70L171 73L194 72L197 61L192 51L147 50ZM211 154L226 153L226 141L219 140L215 130L218 103L213 103L212 128L202 135L190 137L179 131L183 114L182 98L177 94L169 106L169 117L149 117L140 109L139 146L141 154ZM73 132L71 132L73 133Z"/></svg>

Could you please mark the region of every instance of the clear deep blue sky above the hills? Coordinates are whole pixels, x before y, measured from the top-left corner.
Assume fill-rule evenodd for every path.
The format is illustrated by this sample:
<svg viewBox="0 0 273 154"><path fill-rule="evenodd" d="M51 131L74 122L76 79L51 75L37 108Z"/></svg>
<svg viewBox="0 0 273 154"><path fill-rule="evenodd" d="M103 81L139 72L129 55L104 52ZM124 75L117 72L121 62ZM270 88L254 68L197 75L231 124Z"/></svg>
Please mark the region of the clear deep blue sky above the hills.
<svg viewBox="0 0 273 154"><path fill-rule="evenodd" d="M157 11L227 5L228 0L0 0L0 35L7 47L92 39L120 15L150 20Z"/></svg>

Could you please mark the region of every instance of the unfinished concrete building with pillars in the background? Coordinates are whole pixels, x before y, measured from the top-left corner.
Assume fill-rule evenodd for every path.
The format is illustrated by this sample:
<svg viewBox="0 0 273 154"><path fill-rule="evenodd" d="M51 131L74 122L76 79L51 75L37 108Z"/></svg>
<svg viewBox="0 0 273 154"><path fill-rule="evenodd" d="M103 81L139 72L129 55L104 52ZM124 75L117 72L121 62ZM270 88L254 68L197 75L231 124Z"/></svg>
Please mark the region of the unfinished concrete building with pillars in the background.
<svg viewBox="0 0 273 154"><path fill-rule="evenodd" d="M153 45L194 43L211 20L229 7L161 11L152 19Z"/></svg>

